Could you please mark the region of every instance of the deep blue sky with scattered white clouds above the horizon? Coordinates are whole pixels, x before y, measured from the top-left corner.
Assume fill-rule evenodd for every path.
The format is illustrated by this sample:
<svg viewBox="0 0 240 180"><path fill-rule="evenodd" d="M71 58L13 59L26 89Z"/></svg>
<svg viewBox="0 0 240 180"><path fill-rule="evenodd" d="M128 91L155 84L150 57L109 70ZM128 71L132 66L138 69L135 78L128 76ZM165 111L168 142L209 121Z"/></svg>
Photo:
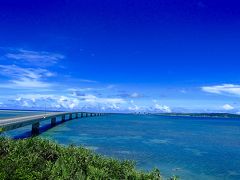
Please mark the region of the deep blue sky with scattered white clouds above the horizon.
<svg viewBox="0 0 240 180"><path fill-rule="evenodd" d="M236 0L0 0L0 108L240 113Z"/></svg>

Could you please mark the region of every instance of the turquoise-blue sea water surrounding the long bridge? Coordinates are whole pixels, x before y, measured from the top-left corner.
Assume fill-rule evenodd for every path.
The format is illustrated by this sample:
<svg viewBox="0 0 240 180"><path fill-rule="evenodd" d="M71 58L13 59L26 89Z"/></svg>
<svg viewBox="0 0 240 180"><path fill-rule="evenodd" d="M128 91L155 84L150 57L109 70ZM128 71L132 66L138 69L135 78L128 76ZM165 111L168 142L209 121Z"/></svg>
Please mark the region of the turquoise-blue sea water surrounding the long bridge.
<svg viewBox="0 0 240 180"><path fill-rule="evenodd" d="M6 117L4 111L0 117ZM40 137L134 160L141 170L156 167L164 177L240 179L240 119L106 115L75 119L52 129L49 123L43 123ZM28 126L4 135L22 138L30 130Z"/></svg>

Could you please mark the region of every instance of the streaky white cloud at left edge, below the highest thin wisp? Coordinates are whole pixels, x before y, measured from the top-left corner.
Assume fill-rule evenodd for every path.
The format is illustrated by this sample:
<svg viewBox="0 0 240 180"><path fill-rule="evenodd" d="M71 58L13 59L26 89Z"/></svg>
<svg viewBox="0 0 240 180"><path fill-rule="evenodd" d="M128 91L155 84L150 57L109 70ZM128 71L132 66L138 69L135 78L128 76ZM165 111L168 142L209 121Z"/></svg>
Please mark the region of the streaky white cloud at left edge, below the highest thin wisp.
<svg viewBox="0 0 240 180"><path fill-rule="evenodd" d="M16 65L0 65L0 74L8 78L8 83L0 85L3 88L48 88L51 84L43 79L54 76L46 69L21 68Z"/></svg>

